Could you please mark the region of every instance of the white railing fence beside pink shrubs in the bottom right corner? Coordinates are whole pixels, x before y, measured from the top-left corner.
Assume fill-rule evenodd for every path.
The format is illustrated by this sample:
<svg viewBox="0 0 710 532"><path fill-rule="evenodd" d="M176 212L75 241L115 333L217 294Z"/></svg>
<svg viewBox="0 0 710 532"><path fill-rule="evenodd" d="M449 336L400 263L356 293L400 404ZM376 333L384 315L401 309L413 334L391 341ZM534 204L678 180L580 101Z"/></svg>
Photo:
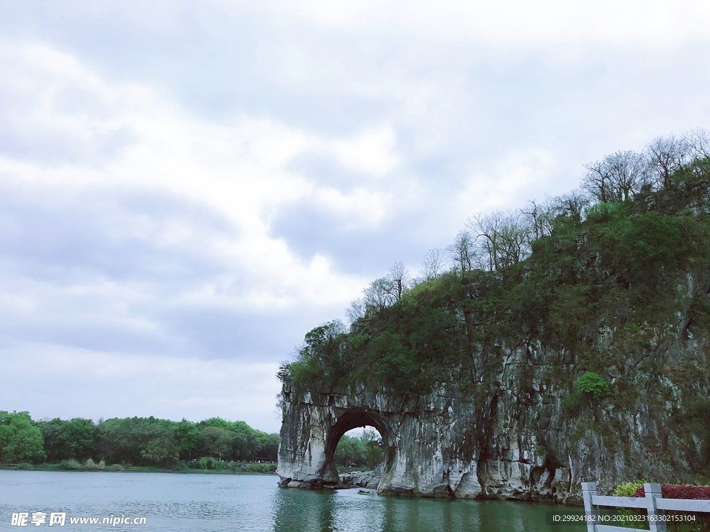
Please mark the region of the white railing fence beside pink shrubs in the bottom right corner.
<svg viewBox="0 0 710 532"><path fill-rule="evenodd" d="M584 498L584 514L586 515L587 532L638 532L638 528L624 526L609 526L599 519L600 506L618 508L635 508L648 511L648 527L650 532L666 532L665 511L698 511L710 513L710 500L697 499L664 499L660 484L643 484L646 496L641 497L607 497L596 494L596 482L582 482L581 492Z"/></svg>

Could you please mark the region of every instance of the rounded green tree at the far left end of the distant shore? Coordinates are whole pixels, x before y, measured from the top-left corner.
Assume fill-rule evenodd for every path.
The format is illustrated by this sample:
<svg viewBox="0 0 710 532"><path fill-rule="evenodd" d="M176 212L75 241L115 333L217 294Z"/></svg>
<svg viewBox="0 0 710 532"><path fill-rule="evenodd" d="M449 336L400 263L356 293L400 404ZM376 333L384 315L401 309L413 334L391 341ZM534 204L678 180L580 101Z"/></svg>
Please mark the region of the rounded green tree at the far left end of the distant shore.
<svg viewBox="0 0 710 532"><path fill-rule="evenodd" d="M41 462L45 459L42 432L27 412L0 411L0 462Z"/></svg>

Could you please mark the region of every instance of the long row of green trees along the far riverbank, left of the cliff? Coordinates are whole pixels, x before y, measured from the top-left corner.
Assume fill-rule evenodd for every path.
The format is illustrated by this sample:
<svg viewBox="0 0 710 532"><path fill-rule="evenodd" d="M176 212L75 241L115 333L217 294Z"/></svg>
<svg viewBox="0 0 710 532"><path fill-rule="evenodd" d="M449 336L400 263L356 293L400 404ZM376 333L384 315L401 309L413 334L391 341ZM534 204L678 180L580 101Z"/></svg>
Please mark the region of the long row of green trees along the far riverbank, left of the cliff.
<svg viewBox="0 0 710 532"><path fill-rule="evenodd" d="M275 461L278 434L244 421L210 418L199 423L148 418L59 418L33 421L27 412L0 411L0 463L55 463L91 458L107 464L177 467L180 462Z"/></svg>

